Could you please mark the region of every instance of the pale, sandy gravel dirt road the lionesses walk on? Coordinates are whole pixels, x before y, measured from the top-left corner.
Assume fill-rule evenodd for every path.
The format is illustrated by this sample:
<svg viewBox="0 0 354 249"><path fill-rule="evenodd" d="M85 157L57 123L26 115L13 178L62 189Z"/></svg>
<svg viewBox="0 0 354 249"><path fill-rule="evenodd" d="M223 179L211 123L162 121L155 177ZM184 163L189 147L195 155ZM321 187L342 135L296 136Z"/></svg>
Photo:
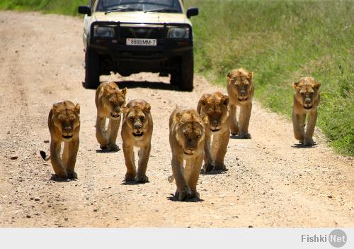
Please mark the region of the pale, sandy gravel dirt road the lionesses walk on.
<svg viewBox="0 0 354 249"><path fill-rule="evenodd" d="M1 227L354 226L353 159L333 153L318 131L314 148L297 147L292 124L257 103L253 138L230 139L229 171L200 175L200 201L174 201L169 114L176 104L196 106L204 92L226 92L201 77L192 93L156 74L101 78L128 87L128 100L152 105L150 182L125 184L122 150L97 151L95 92L81 85L81 30L79 18L0 12ZM57 182L38 152L49 150L50 107L64 99L81 105L79 179Z"/></svg>

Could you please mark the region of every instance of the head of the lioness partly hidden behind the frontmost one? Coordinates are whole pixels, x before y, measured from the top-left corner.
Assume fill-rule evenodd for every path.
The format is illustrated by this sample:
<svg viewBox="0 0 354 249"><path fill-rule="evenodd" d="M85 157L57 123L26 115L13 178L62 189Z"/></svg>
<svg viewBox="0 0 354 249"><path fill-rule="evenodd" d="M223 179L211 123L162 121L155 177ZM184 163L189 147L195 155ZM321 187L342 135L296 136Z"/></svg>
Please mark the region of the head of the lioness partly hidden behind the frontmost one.
<svg viewBox="0 0 354 249"><path fill-rule="evenodd" d="M205 114L212 132L219 131L222 123L227 120L229 96L220 92L204 94L198 103L198 113Z"/></svg>

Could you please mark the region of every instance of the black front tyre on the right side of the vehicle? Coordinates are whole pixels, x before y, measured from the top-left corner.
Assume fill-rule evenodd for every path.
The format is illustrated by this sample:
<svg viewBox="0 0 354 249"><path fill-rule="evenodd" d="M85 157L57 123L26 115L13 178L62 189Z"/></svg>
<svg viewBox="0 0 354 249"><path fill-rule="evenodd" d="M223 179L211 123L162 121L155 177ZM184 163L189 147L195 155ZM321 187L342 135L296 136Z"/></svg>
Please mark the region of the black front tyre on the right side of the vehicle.
<svg viewBox="0 0 354 249"><path fill-rule="evenodd" d="M193 90L193 51L182 57L178 70L171 73L170 83L177 85L182 91Z"/></svg>

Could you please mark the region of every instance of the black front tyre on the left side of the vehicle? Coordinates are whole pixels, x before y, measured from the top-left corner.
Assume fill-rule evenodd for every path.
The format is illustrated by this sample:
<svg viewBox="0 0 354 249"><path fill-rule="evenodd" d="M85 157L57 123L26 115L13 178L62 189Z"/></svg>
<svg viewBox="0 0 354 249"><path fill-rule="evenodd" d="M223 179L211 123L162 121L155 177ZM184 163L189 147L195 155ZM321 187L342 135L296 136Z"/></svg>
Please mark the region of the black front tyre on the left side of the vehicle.
<svg viewBox="0 0 354 249"><path fill-rule="evenodd" d="M85 82L87 89L97 89L100 84L100 58L96 52L87 49L85 52Z"/></svg>

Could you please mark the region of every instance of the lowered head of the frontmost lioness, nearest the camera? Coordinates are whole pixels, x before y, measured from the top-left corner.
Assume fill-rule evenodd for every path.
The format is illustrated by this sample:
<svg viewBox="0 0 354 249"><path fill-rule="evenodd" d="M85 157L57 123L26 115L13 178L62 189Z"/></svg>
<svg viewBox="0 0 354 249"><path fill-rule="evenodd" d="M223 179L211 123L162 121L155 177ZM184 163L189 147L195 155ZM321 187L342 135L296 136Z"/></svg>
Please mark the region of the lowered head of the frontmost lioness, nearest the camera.
<svg viewBox="0 0 354 249"><path fill-rule="evenodd" d="M176 113L174 122L178 123L176 139L182 146L183 153L194 155L205 135L202 117L197 111L190 109Z"/></svg>

